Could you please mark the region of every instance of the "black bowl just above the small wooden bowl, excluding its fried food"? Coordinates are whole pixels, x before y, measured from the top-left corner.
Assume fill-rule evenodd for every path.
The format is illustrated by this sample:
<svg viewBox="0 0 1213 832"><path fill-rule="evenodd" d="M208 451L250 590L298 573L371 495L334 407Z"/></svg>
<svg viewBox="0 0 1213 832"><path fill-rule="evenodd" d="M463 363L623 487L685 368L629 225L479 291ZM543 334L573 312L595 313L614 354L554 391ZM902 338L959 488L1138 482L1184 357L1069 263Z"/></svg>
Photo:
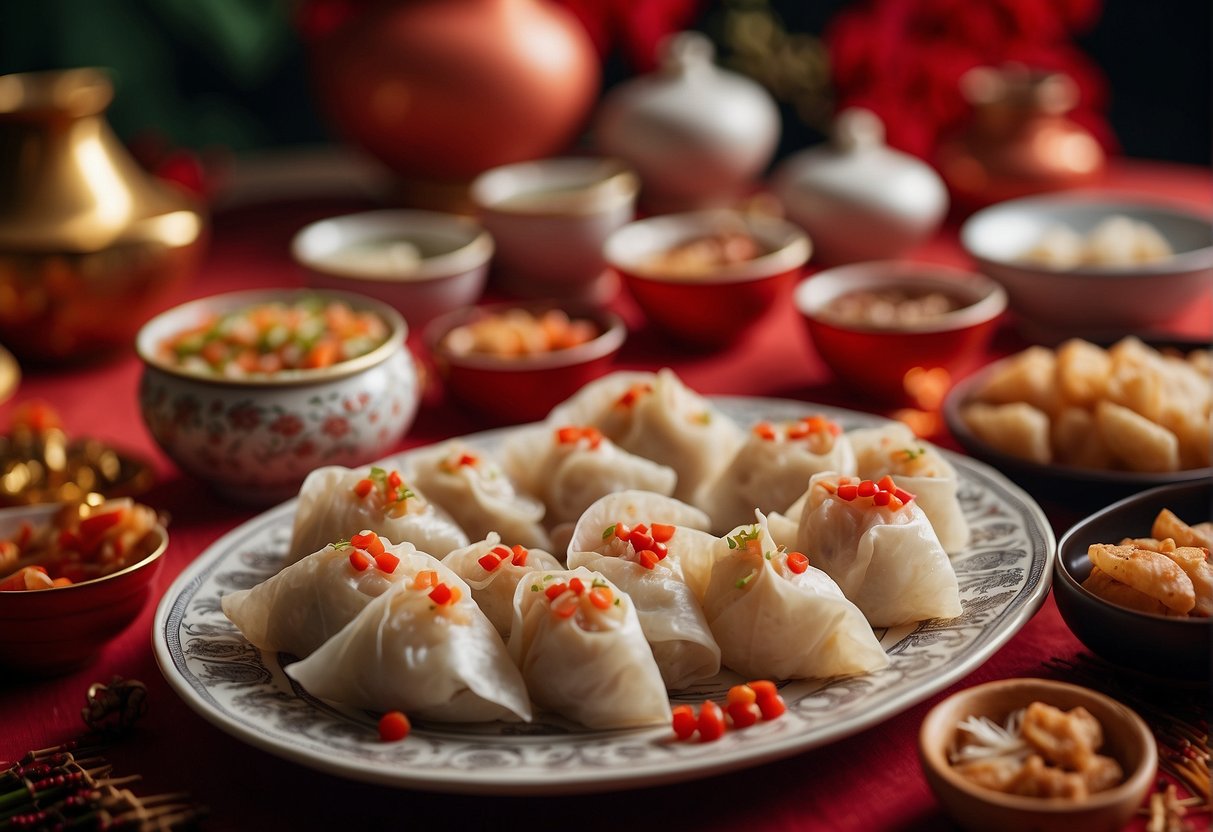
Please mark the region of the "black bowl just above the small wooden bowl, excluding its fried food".
<svg viewBox="0 0 1213 832"><path fill-rule="evenodd" d="M1058 543L1053 595L1066 625L1092 653L1154 676L1207 680L1213 620L1138 612L1110 604L1081 586L1090 575L1087 548L1092 543L1149 537L1154 518L1163 508L1191 524L1213 518L1213 481L1150 489L1076 524Z"/></svg>

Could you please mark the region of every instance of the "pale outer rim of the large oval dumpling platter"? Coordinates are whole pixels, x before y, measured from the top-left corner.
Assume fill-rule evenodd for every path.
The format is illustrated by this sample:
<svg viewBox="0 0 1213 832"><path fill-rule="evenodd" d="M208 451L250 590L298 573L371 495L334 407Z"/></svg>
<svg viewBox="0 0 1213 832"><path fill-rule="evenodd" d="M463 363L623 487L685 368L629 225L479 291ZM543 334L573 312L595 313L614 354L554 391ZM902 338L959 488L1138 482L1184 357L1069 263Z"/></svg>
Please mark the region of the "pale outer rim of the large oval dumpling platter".
<svg viewBox="0 0 1213 832"><path fill-rule="evenodd" d="M890 421L862 411L848 410L833 405L807 403L797 399L750 395L711 395L706 398L714 405L730 400L744 403L754 408L762 408L770 403L776 408L797 408L801 410L815 409L826 415L835 414L844 416L848 421L854 422L856 427L879 426L889 423ZM471 434L463 434L462 437L451 437L451 439L474 438L477 440L489 441L496 437L513 433L524 427L526 426L490 428ZM432 444L439 444L442 441L446 441L446 439L435 440ZM385 457L383 461L408 456L410 452L426 446L429 445L418 445L416 448L399 451ZM764 763L770 763L820 748L848 736L853 736L875 725L879 725L883 722L904 713L915 705L926 701L940 690L944 690L955 682L969 676L980 665L985 663L1008 640L1010 640L1044 604L1044 600L1050 591L1054 575L1057 536L1054 535L1053 528L1049 524L1048 518L1044 515L1043 509L1031 497L1031 495L1015 483L1010 481L1004 474L993 469L991 466L947 449L940 450L953 465L958 462L959 467L967 469L968 473L997 484L998 488L1003 489L1010 497L1019 502L1019 508L1021 511L1036 522L1036 531L1040 532L1041 546L1043 547L1044 554L1040 574L1035 576L1036 583L1031 587L1025 587L1023 593L1016 597L1016 603L1013 609L1008 610L1008 615L1003 619L1006 622L1004 626L1000 627L997 632L989 634L987 632L983 632L978 636L978 640L981 642L980 649L975 650L972 655L949 665L946 672L944 673L935 673L928 678L918 679L911 689L899 693L866 714L853 717L832 724L825 729L814 731L811 737L808 740L804 739L803 731L797 731L790 736L768 742L758 750L748 748L747 743L740 743L738 747L714 757L697 757L694 758L693 762L688 762L685 759L680 760L682 765L676 767L668 765L668 759L665 759L665 767L647 763L643 767L632 767L627 771L599 770L593 768L571 770L563 769L559 779L547 779L540 781L530 775L518 777L511 776L511 769L507 767L483 770L466 769L460 773L459 779L454 780L450 779L450 773L445 770L427 771L422 768L402 771L393 770L391 767L376 769L375 767L368 765L365 762L328 758L321 753L314 753L311 750L297 745L283 743L272 735L257 733L255 729L245 725L240 719L237 719L226 711L216 708L211 703L206 702L198 694L198 691L194 690L177 667L178 659L183 659L183 655L178 656L181 651L175 651L172 645L169 643L169 639L165 637L166 626L171 623L175 617L180 620L180 617L176 616L175 608L177 606L177 602L183 592L192 585L201 585L209 571L217 568L223 560L223 555L227 553L227 549L232 546L233 541L238 540L240 536L251 534L256 526L272 524L279 519L280 514L290 513L298 501L297 497L292 497L283 503L279 503L278 506L261 512L239 524L234 529L230 529L209 545L181 571L181 574L165 591L156 605L152 625L153 654L161 674L178 697L181 697L182 701L190 707L190 710L226 734L281 759L359 782L444 793L471 793L484 796L557 796L590 794L640 787L654 787L700 780L725 771L753 768ZM1031 529L1029 529L1029 531L1031 531ZM177 627L177 632L180 632L180 626ZM906 638L912 636L915 632L917 631L911 631ZM667 728L661 726L614 731L586 731L579 733L576 737L579 742L582 742L593 740L594 737L617 737L626 734L633 734L638 737L650 734L653 735L650 741L660 741L660 735L668 735L670 733ZM670 736L672 737L672 735Z"/></svg>

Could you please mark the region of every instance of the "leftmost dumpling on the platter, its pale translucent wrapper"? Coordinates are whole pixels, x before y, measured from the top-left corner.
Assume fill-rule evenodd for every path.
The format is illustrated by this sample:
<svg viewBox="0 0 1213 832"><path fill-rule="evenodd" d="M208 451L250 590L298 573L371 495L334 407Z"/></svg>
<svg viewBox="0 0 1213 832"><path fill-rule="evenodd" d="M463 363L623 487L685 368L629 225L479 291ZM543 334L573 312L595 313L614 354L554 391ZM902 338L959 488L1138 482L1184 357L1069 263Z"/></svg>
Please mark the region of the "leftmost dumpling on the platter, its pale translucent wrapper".
<svg viewBox="0 0 1213 832"><path fill-rule="evenodd" d="M223 614L260 650L307 656L405 576L399 566L358 570L351 551L348 545L325 546L251 589L230 592L221 599ZM417 552L412 543L386 551L398 558Z"/></svg>

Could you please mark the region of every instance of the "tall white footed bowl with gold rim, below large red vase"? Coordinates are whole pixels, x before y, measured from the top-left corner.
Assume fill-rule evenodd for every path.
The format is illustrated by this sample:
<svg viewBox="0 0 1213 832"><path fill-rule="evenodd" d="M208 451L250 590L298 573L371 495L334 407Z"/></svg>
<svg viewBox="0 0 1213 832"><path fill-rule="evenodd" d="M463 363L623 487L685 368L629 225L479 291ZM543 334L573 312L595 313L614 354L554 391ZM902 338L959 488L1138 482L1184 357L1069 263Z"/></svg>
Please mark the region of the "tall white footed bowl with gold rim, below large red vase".
<svg viewBox="0 0 1213 832"><path fill-rule="evenodd" d="M472 182L497 244L494 277L522 297L600 301L610 290L603 243L632 221L639 179L616 159L540 159Z"/></svg>

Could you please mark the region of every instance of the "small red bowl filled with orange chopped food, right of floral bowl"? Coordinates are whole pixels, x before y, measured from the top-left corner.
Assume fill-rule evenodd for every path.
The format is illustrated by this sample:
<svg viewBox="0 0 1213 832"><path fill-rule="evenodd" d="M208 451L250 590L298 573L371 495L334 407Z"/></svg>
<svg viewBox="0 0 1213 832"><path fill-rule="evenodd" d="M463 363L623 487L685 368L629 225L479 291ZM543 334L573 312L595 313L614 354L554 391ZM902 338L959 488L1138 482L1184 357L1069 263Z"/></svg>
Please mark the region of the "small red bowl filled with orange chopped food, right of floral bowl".
<svg viewBox="0 0 1213 832"><path fill-rule="evenodd" d="M610 369L627 327L591 306L496 303L426 327L446 391L502 422L531 422Z"/></svg>

